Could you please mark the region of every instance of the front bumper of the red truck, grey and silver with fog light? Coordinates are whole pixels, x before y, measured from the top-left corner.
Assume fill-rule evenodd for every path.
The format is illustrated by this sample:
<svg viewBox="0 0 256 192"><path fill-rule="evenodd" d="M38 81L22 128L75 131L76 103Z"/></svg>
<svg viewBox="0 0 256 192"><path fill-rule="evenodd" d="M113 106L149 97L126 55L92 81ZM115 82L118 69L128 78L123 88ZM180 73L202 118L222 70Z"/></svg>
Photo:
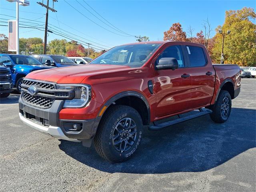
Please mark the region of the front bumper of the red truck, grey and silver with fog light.
<svg viewBox="0 0 256 192"><path fill-rule="evenodd" d="M20 119L28 126L51 136L69 140L83 141L93 138L93 126L95 119L90 120L65 120L59 119L64 100L55 100L50 108L38 108L26 103L22 94L19 99ZM78 131L70 131L67 124L79 124L82 128Z"/></svg>

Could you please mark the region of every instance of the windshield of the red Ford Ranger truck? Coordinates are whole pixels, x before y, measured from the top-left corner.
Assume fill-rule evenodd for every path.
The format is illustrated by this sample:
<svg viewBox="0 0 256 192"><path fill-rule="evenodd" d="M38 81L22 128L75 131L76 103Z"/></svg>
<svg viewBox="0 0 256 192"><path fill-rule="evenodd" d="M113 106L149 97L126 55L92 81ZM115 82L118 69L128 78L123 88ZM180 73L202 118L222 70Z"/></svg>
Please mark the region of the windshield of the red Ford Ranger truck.
<svg viewBox="0 0 256 192"><path fill-rule="evenodd" d="M141 67L160 44L131 44L116 46L105 52L90 64L127 65Z"/></svg>

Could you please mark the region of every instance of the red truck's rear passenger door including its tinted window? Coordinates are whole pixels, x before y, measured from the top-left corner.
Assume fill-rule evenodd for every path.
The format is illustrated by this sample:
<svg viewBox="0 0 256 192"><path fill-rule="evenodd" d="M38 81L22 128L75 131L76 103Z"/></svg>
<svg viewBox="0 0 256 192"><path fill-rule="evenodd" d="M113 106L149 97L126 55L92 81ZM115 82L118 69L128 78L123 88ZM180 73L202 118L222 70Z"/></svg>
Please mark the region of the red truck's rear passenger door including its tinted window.
<svg viewBox="0 0 256 192"><path fill-rule="evenodd" d="M210 57L207 58L203 46L186 45L186 55L192 76L190 108L207 105L212 99L215 84L215 70Z"/></svg>

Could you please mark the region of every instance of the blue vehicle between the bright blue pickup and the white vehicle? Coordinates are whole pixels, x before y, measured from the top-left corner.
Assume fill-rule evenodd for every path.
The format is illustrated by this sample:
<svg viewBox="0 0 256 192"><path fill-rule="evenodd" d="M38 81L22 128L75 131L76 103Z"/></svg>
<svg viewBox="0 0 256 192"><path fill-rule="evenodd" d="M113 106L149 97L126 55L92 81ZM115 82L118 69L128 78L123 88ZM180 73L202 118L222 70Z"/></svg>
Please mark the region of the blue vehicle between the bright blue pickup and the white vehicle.
<svg viewBox="0 0 256 192"><path fill-rule="evenodd" d="M42 64L54 67L67 67L77 65L74 61L61 55L32 55Z"/></svg>

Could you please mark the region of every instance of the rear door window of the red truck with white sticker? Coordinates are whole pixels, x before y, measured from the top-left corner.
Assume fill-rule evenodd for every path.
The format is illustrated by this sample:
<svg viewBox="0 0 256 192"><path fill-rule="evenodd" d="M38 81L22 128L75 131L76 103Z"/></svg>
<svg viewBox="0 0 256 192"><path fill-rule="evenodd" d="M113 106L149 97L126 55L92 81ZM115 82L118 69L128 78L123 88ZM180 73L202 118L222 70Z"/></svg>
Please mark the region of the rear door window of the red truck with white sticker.
<svg viewBox="0 0 256 192"><path fill-rule="evenodd" d="M191 67L200 67L206 64L204 50L201 47L186 46Z"/></svg>

